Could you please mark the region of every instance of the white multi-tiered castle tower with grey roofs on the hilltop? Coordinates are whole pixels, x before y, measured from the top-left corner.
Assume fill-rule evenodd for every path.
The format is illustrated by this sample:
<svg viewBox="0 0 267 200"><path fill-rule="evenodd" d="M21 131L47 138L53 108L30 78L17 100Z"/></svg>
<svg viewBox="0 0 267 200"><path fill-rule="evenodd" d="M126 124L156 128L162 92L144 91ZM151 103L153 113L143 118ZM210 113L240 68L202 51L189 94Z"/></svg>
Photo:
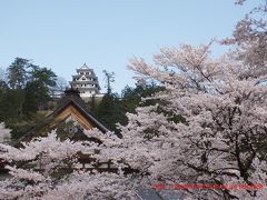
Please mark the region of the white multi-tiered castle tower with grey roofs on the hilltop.
<svg viewBox="0 0 267 200"><path fill-rule="evenodd" d="M70 81L71 88L78 89L81 98L90 98L99 94L100 87L93 70L88 68L85 63L76 71L77 74L72 76L72 81Z"/></svg>

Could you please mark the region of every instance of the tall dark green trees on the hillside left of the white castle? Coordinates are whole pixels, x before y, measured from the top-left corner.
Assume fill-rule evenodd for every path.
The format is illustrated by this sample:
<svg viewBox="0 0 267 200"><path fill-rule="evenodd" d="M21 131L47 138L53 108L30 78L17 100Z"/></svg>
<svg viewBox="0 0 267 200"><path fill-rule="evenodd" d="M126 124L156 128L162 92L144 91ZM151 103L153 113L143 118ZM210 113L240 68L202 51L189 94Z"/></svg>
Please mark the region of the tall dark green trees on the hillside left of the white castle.
<svg viewBox="0 0 267 200"><path fill-rule="evenodd" d="M56 86L57 76L22 58L14 59L7 74L6 81L0 80L0 121L18 138L38 123L37 111L50 100L50 88Z"/></svg>

